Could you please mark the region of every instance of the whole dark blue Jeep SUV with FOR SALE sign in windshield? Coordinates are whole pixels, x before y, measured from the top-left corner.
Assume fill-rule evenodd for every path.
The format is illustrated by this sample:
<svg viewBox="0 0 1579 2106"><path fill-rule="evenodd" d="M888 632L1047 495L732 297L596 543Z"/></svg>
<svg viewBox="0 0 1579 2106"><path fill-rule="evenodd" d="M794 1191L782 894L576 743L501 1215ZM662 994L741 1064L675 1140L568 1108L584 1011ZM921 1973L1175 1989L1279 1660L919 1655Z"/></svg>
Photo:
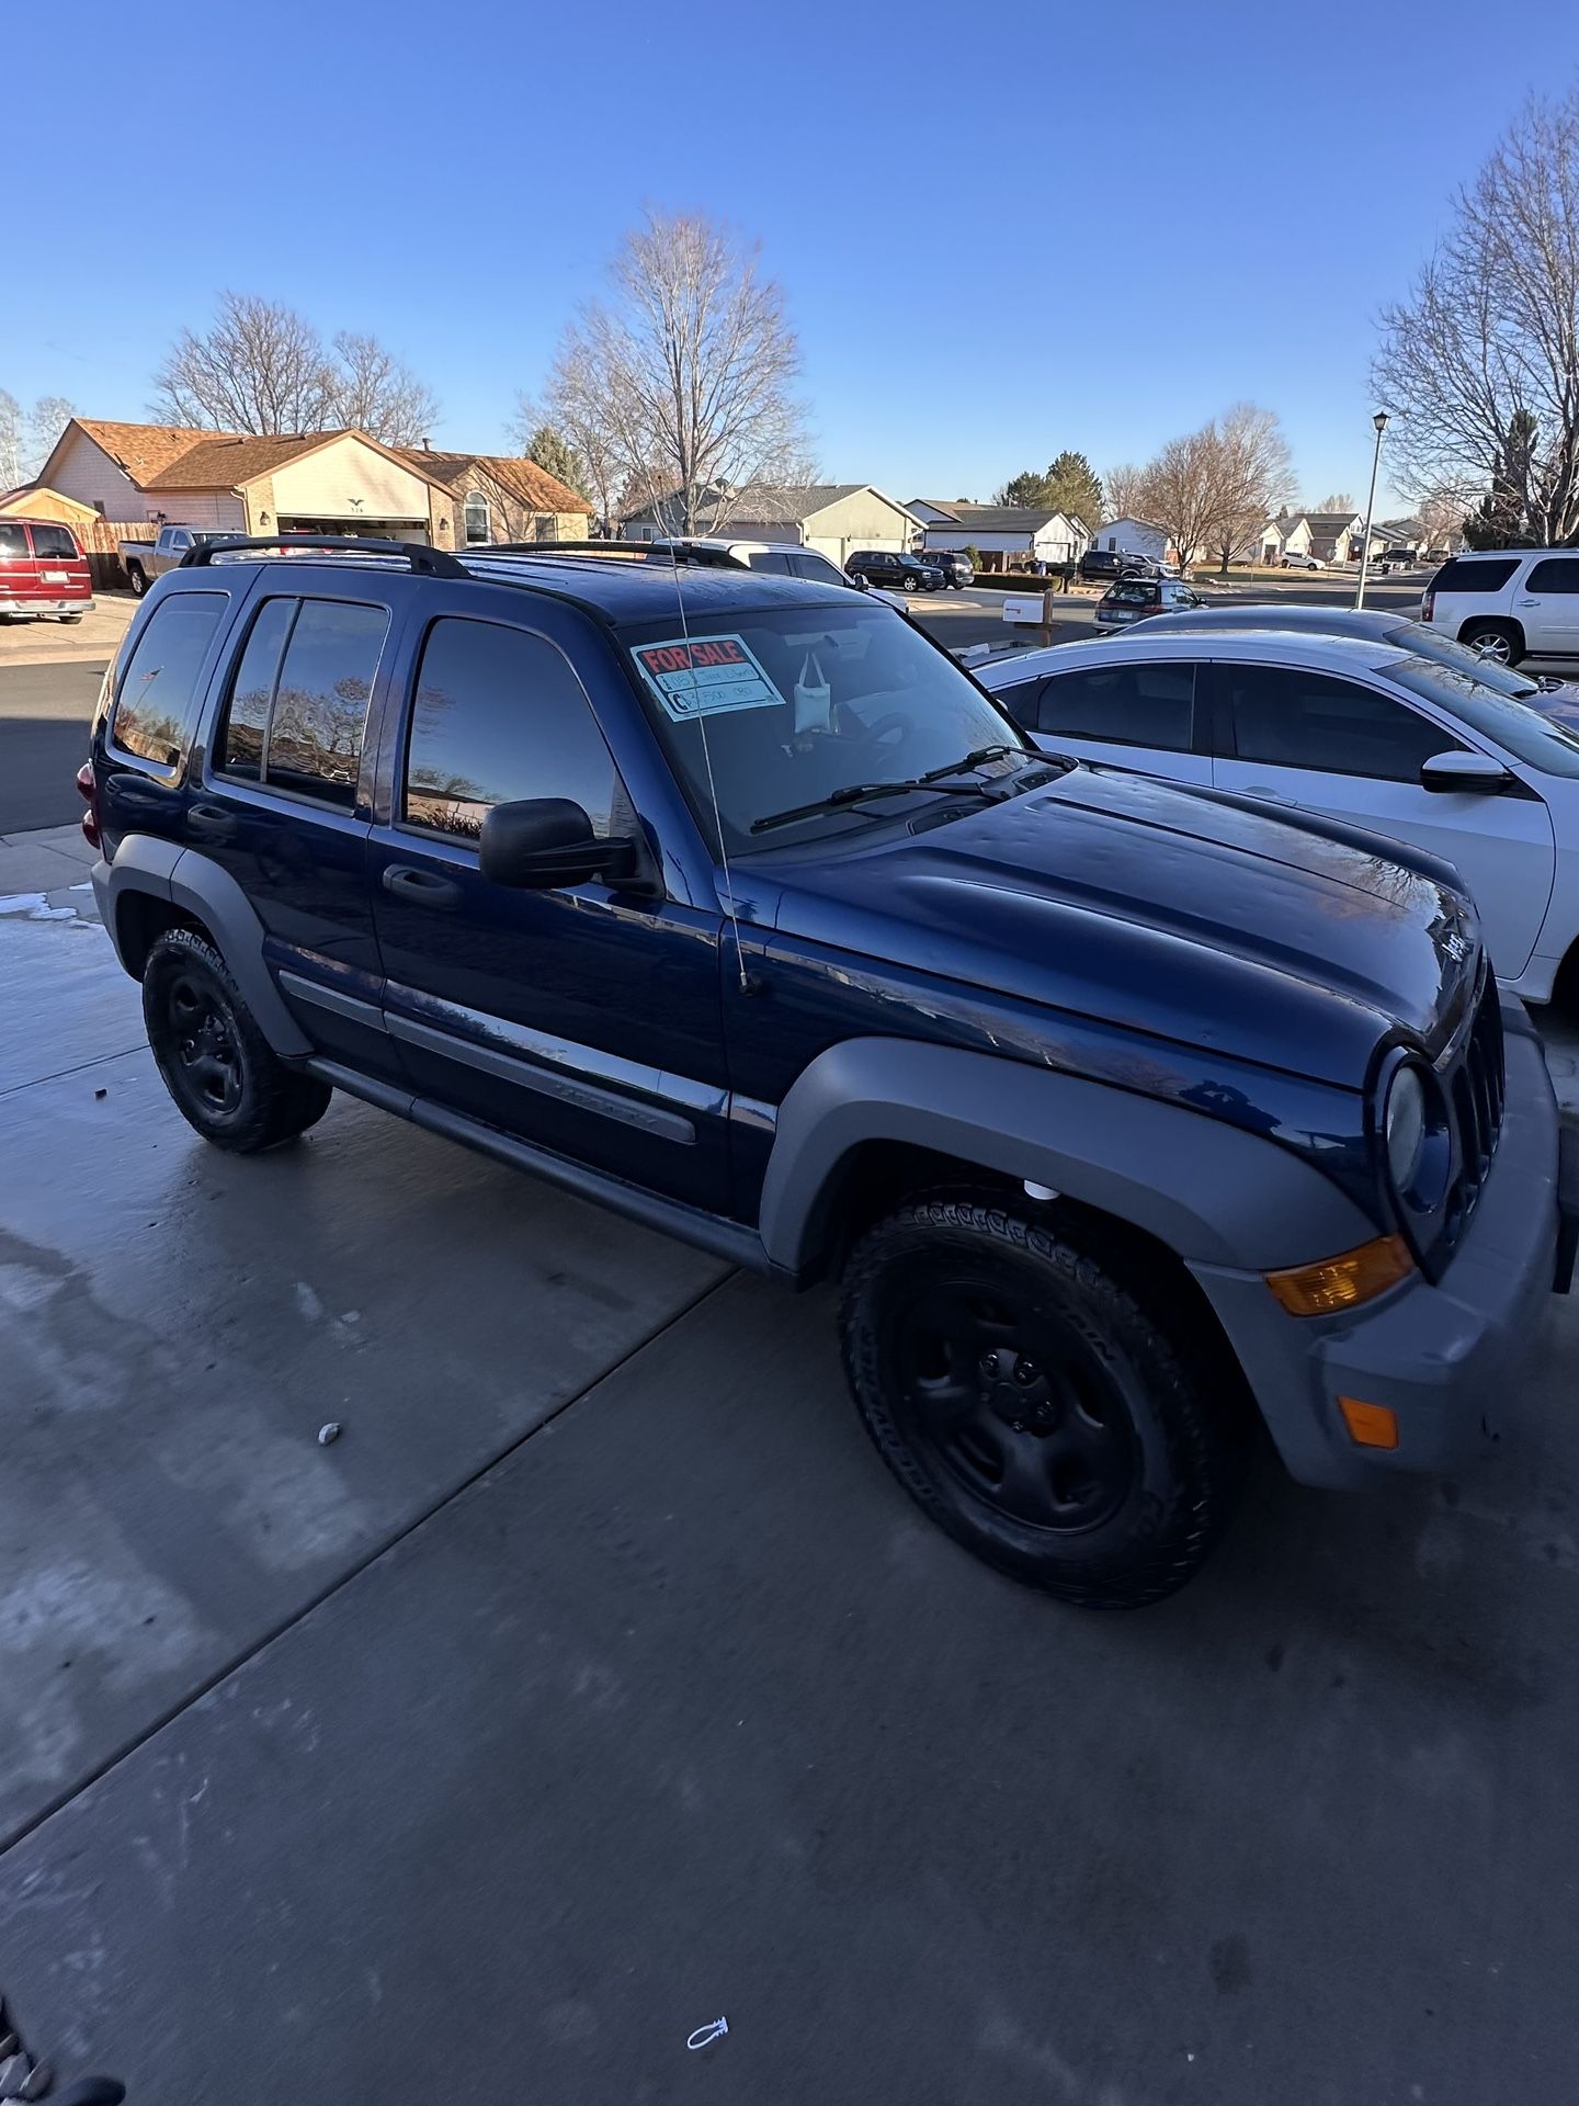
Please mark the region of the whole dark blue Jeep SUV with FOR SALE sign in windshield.
<svg viewBox="0 0 1579 2106"><path fill-rule="evenodd" d="M152 585L78 777L204 1139L343 1091L834 1280L903 1489L1074 1603L1190 1577L1257 1417L1352 1487L1518 1407L1573 1137L1444 861L1042 754L840 588L284 554Z"/></svg>

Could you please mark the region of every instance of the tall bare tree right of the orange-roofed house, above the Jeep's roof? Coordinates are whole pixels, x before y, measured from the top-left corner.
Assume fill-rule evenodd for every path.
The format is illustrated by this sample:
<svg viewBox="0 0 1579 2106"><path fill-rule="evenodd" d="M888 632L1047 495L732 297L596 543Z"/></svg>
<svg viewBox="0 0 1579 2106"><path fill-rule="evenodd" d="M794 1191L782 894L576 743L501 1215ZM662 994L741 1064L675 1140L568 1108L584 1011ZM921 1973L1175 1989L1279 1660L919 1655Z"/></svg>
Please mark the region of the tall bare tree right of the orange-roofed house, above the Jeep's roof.
<svg viewBox="0 0 1579 2106"><path fill-rule="evenodd" d="M790 392L800 347L756 244L701 215L648 211L608 278L608 297L560 341L547 406L611 512L636 484L695 533L722 524L747 484L804 472Z"/></svg>

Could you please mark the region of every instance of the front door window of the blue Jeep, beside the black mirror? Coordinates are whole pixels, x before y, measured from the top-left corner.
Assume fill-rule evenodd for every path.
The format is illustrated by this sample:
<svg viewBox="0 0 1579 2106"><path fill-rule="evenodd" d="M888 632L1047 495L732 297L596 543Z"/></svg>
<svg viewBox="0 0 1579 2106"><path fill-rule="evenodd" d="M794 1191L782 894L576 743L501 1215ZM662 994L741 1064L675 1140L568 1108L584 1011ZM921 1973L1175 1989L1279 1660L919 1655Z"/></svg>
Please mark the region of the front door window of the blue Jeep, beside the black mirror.
<svg viewBox="0 0 1579 2106"><path fill-rule="evenodd" d="M571 661L545 636L444 617L427 632L406 739L404 826L474 842L495 804L562 796L606 838L625 790Z"/></svg>

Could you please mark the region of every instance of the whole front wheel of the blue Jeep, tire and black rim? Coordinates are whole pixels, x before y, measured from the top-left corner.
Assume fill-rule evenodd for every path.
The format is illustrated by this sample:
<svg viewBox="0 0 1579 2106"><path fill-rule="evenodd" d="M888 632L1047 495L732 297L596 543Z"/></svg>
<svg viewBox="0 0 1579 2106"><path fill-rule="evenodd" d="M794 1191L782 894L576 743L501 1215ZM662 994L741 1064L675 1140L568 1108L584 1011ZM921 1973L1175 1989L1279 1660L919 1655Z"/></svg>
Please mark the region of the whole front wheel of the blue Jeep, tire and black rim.
<svg viewBox="0 0 1579 2106"><path fill-rule="evenodd" d="M1240 1481L1234 1409L1095 1257L987 1194L910 1200L842 1283L878 1453L987 1565L1061 1601L1162 1601Z"/></svg>

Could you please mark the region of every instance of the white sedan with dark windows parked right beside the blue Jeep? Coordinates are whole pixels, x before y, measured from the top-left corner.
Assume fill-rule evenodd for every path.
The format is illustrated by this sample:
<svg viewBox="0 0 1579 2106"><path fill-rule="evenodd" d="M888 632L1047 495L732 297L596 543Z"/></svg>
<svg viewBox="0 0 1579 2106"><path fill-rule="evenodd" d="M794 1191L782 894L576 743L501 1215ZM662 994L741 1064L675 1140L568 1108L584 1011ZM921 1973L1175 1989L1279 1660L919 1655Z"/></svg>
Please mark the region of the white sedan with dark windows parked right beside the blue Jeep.
<svg viewBox="0 0 1579 2106"><path fill-rule="evenodd" d="M1566 962L1564 988L1579 988L1579 733L1474 672L1364 638L1141 623L977 678L1046 752L1440 855L1474 895L1505 986L1545 1002Z"/></svg>

